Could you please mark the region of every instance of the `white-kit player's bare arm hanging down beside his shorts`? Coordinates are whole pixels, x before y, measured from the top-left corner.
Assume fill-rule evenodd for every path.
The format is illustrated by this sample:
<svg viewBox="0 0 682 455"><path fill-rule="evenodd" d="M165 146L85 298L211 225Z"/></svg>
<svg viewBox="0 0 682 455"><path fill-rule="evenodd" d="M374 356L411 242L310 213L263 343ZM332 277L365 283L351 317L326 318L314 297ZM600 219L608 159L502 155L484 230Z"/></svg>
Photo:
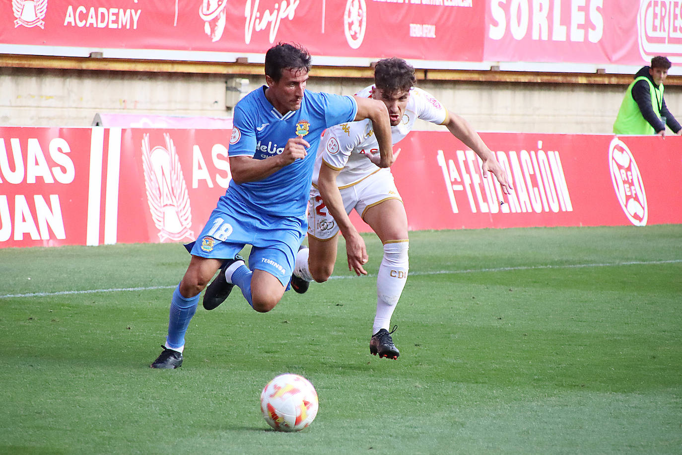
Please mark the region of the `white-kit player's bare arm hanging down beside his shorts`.
<svg viewBox="0 0 682 455"><path fill-rule="evenodd" d="M334 217L341 233L346 239L346 255L348 256L348 269L360 275L366 275L367 271L362 267L366 264L369 256L365 241L351 223L351 218L346 214L341 192L336 185L336 177L340 171L332 169L322 163L320 174L317 177L317 188L320 190L322 200L325 202L329 214Z"/></svg>

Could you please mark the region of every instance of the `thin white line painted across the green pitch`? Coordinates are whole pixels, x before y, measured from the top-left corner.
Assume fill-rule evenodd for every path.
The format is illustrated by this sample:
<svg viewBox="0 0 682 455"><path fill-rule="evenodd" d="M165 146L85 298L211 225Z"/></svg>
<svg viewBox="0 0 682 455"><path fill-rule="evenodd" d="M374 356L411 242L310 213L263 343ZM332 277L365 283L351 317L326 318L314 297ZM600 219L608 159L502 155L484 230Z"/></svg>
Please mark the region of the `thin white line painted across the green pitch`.
<svg viewBox="0 0 682 455"><path fill-rule="evenodd" d="M595 263L595 264L566 264L566 265L524 265L520 267L496 267L490 269L464 269L464 270L439 270L439 271L413 271L410 276L428 276L428 275L443 275L443 274L475 274L485 273L490 271L514 271L514 270L539 270L539 269L583 269L587 267L620 267L622 265L657 265L657 264L674 264L682 263L682 259L671 259L670 261L627 261L618 263ZM366 275L368 277L376 276L374 274ZM355 278L354 275L334 275L329 277L330 280L344 280L347 278ZM149 287L134 287L134 288L112 288L112 289L87 289L85 291L59 291L59 292L36 292L28 294L5 294L0 295L0 299L10 299L18 297L47 297L52 295L72 295L72 294L95 294L106 292L125 292L125 291L153 291L155 289L175 289L175 286L149 286Z"/></svg>

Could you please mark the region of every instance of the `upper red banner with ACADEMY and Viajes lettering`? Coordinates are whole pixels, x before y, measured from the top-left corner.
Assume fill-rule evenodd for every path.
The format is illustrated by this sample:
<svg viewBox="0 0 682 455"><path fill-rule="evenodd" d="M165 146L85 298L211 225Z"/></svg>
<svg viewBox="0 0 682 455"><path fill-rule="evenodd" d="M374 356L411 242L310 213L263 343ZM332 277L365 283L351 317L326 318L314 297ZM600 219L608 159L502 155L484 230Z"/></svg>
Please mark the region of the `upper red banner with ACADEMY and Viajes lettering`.
<svg viewBox="0 0 682 455"><path fill-rule="evenodd" d="M473 0L12 0L0 43L263 54L285 41L320 56L480 61L483 17Z"/></svg>

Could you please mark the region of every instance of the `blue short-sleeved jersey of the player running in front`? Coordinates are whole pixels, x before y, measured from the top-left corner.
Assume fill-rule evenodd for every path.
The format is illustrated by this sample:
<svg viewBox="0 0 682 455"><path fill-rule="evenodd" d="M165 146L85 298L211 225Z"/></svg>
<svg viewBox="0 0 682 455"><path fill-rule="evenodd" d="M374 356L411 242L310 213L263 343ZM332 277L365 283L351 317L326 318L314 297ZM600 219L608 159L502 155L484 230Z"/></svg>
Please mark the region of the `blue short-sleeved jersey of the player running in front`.
<svg viewBox="0 0 682 455"><path fill-rule="evenodd" d="M284 151L290 138L299 135L310 148L302 160L284 166L258 181L230 182L225 196L233 204L258 213L303 216L312 183L312 168L320 136L325 128L355 119L352 96L305 91L301 107L282 115L265 98L265 86L245 96L235 106L229 156L264 160Z"/></svg>

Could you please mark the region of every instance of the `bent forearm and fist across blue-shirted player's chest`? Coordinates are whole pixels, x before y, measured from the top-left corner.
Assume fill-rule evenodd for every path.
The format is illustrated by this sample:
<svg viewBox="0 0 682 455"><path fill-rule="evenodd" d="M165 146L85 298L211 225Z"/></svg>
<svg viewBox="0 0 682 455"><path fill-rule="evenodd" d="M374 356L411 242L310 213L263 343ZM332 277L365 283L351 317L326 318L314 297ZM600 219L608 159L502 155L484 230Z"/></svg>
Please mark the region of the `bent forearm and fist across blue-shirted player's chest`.
<svg viewBox="0 0 682 455"><path fill-rule="evenodd" d="M265 179L295 160L304 158L307 153L306 148L309 147L308 141L298 136L286 141L282 153L265 158L265 160L256 160L250 156L230 157L232 179L236 184Z"/></svg>

